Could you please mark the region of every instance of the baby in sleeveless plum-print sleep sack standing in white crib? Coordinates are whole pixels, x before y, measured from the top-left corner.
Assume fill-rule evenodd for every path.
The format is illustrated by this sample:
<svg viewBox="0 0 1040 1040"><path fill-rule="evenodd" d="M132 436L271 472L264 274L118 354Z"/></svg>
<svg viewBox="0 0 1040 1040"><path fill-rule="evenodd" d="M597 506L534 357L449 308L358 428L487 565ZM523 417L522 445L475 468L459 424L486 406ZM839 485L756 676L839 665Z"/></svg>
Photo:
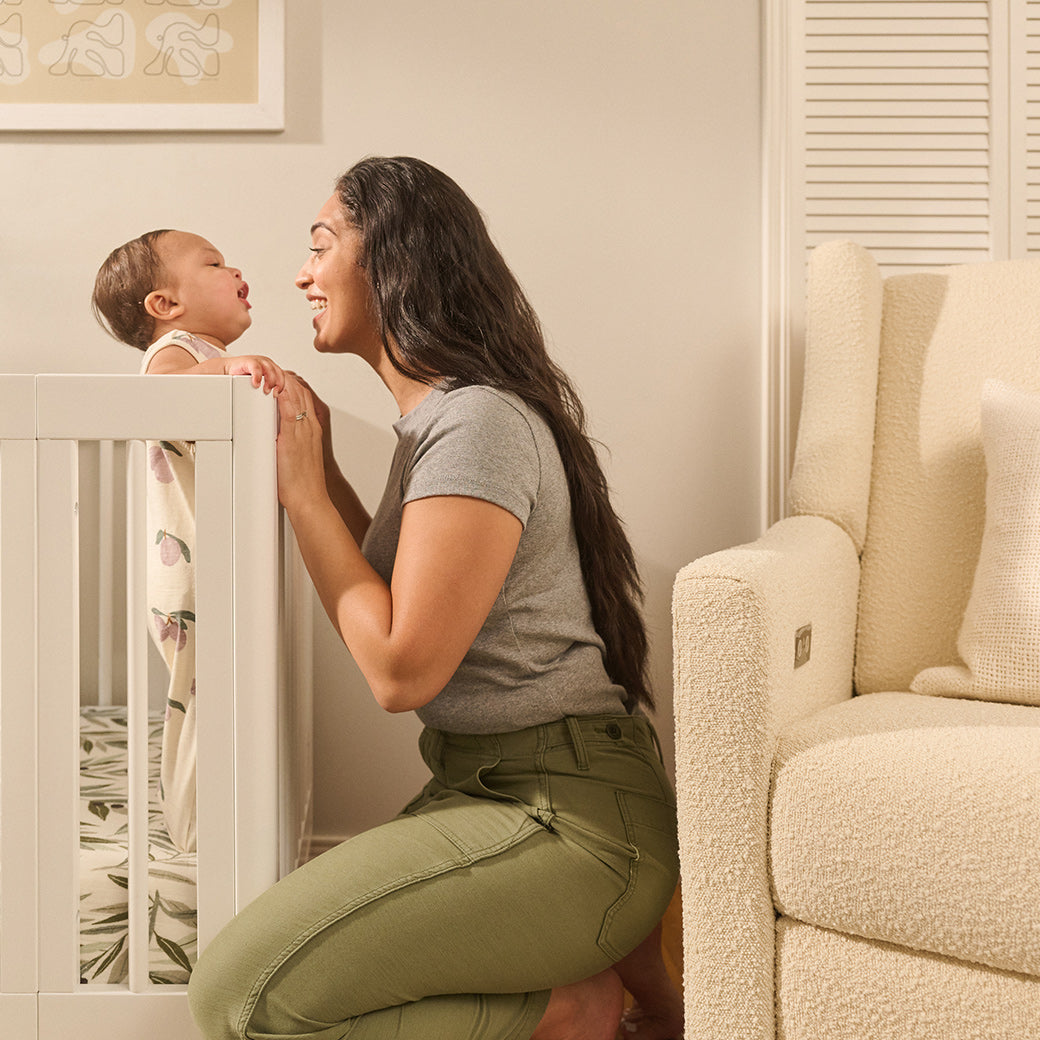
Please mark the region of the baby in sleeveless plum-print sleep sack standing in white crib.
<svg viewBox="0 0 1040 1040"><path fill-rule="evenodd" d="M101 265L92 304L102 327L145 352L141 373L249 375L264 393L285 386L269 358L228 357L252 322L249 286L205 238L150 231ZM159 801L170 837L196 848L194 444L148 445L149 630L170 671ZM154 535L154 542L153 542Z"/></svg>

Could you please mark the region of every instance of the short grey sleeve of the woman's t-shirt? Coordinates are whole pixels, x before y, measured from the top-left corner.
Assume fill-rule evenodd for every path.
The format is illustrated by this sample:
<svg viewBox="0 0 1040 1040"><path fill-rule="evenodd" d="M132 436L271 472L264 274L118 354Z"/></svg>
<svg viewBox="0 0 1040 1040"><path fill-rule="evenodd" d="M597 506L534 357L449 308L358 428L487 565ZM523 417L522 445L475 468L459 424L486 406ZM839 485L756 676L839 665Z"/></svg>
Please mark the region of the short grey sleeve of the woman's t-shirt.
<svg viewBox="0 0 1040 1040"><path fill-rule="evenodd" d="M541 467L526 415L484 387L444 394L411 465L401 502L465 495L493 502L526 526L538 499Z"/></svg>

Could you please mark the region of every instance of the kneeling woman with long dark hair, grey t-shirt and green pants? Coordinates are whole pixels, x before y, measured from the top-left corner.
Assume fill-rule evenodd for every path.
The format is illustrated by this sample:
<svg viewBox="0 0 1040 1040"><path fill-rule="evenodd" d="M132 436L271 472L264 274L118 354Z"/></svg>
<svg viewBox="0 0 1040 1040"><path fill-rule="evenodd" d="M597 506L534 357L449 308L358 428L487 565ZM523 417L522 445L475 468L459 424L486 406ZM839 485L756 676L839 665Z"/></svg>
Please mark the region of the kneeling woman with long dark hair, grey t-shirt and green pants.
<svg viewBox="0 0 1040 1040"><path fill-rule="evenodd" d="M279 494L321 602L433 779L291 874L192 977L208 1038L607 1040L681 1010L652 929L677 877L632 552L581 407L472 202L366 159L312 229L314 345L357 354L401 418L365 512L302 381ZM362 551L362 547L364 551ZM649 935L649 938L648 938Z"/></svg>

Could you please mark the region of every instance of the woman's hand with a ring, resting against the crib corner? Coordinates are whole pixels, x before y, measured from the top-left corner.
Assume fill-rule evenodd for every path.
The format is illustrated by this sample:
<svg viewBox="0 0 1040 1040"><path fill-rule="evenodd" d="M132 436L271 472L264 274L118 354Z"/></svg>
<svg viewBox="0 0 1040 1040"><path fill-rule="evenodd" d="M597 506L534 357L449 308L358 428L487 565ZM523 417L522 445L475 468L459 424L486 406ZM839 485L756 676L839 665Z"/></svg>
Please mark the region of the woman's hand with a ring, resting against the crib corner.
<svg viewBox="0 0 1040 1040"><path fill-rule="evenodd" d="M324 405L306 383L287 373L278 393L278 497L290 516L327 496L319 414L326 415L328 423Z"/></svg>

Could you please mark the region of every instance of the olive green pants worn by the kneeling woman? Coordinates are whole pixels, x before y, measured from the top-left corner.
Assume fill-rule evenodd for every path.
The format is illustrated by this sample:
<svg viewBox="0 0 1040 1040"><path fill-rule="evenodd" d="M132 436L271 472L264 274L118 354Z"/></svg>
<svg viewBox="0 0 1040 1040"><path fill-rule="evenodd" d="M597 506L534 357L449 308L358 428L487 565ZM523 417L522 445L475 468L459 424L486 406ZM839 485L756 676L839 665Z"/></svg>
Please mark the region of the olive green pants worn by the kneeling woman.
<svg viewBox="0 0 1040 1040"><path fill-rule="evenodd" d="M188 990L207 1040L526 1040L675 889L675 799L643 718L425 730L401 814L246 907Z"/></svg>

